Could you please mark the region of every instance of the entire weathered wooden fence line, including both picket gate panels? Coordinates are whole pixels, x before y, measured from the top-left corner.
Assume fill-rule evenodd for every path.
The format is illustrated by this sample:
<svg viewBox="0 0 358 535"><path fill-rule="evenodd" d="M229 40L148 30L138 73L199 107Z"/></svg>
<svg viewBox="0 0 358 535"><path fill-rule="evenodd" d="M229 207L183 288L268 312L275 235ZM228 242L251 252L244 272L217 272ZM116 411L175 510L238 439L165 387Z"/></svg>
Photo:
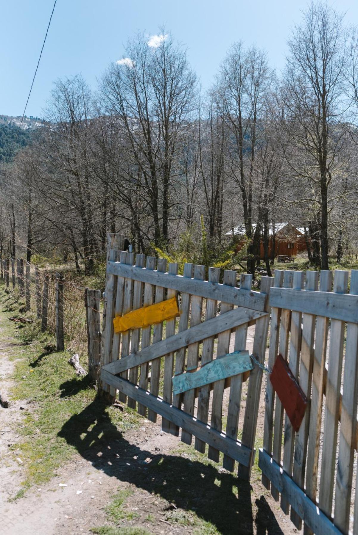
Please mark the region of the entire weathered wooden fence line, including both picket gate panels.
<svg viewBox="0 0 358 535"><path fill-rule="evenodd" d="M275 270L252 292L247 274L239 288L235 271L225 271L220 284L219 269L210 268L206 281L203 266L185 264L180 277L177 264L167 273L165 259L135 258L123 244L123 236L109 235L103 335L100 290L78 289L94 380L101 360L99 391L153 422L161 414L164 431L179 435L181 428L181 440L214 461L223 452L223 467L233 471L238 462L245 479L263 403L264 486L297 529L304 523L305 533L358 535L358 271ZM19 287L26 309L34 307L42 330L56 331L63 348L71 283L22 261L3 259L0 268L6 286ZM173 298L179 316L145 323L148 307ZM121 332L134 310L145 310L142 323ZM249 328L253 362L240 368Z"/></svg>

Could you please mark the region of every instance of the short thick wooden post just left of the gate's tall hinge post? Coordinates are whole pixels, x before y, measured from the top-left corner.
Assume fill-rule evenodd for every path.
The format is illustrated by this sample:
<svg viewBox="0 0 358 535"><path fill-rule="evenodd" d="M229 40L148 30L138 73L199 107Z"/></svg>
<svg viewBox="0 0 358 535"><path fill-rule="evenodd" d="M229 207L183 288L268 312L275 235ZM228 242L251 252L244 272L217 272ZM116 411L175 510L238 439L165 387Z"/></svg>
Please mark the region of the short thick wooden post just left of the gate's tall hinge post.
<svg viewBox="0 0 358 535"><path fill-rule="evenodd" d="M88 375L98 381L101 364L101 291L85 290L86 324L88 339Z"/></svg>

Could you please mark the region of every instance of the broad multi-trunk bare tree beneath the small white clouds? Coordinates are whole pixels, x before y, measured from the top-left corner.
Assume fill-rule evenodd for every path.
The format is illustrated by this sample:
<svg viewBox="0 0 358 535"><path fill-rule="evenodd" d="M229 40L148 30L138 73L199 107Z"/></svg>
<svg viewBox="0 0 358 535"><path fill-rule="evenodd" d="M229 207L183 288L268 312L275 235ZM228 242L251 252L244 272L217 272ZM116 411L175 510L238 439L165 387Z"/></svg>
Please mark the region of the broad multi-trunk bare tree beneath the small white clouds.
<svg viewBox="0 0 358 535"><path fill-rule="evenodd" d="M185 51L165 30L153 46L138 35L129 41L126 55L103 78L105 110L117 119L126 139L122 157L131 187L150 210L154 242L165 245L171 208L177 203L178 144L195 105L196 78Z"/></svg>

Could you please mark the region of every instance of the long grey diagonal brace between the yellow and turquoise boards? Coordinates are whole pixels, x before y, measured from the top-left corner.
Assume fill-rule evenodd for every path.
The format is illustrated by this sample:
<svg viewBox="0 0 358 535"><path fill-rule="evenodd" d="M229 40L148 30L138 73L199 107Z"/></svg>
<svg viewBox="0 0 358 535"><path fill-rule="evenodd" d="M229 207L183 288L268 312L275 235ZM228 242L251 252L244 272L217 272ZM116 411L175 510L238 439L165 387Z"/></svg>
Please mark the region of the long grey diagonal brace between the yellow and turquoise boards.
<svg viewBox="0 0 358 535"><path fill-rule="evenodd" d="M111 362L110 364L106 364L105 366L102 366L102 370L106 370L110 373L113 373L113 375L117 375L117 373L129 370L135 366L149 362L154 358L162 357L173 351L177 351L178 349L188 346L191 343L200 342L201 340L205 340L205 338L228 331L234 327L238 327L239 325L262 318L263 316L267 316L267 312L236 308L230 312L226 312L226 314L209 319L206 322L200 323L195 327L191 327L186 331L175 334L170 338L166 338L165 340L154 343L152 346L138 351L138 353L132 353L128 357L124 357L120 360Z"/></svg>

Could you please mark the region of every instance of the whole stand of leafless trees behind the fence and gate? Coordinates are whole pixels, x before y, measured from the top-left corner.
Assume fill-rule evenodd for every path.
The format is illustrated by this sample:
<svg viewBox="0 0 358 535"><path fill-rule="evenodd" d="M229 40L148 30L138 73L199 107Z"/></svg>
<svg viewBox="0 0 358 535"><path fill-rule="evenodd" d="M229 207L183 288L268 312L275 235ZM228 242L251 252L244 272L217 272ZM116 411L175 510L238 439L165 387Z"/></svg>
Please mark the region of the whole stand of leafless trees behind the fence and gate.
<svg viewBox="0 0 358 535"><path fill-rule="evenodd" d="M328 269L358 252L357 112L358 33L325 4L291 30L282 72L236 42L205 93L168 29L138 33L96 90L57 80L44 125L2 166L1 253L89 274L107 232L206 265L229 265L245 240L253 273L260 239L270 271L268 229L289 221Z"/></svg>

